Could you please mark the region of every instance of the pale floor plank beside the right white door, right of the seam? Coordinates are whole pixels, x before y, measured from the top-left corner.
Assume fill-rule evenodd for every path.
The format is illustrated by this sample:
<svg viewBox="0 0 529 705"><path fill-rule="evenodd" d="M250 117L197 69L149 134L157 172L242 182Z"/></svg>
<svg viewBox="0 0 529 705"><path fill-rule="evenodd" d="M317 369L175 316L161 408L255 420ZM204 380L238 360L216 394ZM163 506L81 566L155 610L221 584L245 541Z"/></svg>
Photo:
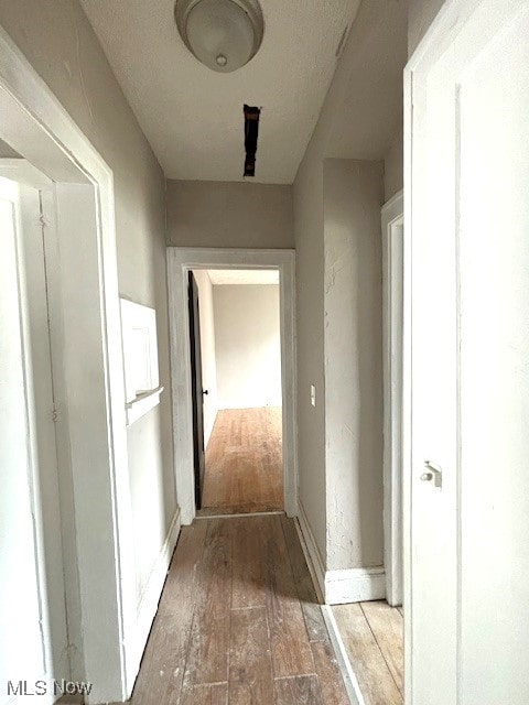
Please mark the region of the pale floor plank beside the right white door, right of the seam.
<svg viewBox="0 0 529 705"><path fill-rule="evenodd" d="M402 615L385 600L361 603L361 609L371 628L382 657L401 695L404 692L404 650Z"/></svg>

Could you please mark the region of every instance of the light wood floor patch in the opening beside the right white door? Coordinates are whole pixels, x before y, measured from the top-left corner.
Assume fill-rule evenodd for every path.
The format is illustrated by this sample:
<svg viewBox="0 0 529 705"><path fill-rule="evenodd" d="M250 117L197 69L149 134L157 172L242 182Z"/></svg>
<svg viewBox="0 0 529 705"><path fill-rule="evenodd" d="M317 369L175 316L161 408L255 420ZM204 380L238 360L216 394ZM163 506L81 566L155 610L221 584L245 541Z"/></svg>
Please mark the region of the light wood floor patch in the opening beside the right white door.
<svg viewBox="0 0 529 705"><path fill-rule="evenodd" d="M336 605L333 614L365 705L403 703L403 619L386 601Z"/></svg>

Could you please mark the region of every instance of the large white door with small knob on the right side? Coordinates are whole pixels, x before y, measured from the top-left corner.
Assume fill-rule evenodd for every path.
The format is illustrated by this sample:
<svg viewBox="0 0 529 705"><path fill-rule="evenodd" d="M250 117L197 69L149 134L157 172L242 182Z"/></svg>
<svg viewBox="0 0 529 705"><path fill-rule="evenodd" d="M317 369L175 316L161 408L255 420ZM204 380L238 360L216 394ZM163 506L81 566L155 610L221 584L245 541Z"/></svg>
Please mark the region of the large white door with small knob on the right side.
<svg viewBox="0 0 529 705"><path fill-rule="evenodd" d="M446 3L407 77L407 703L527 705L529 0Z"/></svg>

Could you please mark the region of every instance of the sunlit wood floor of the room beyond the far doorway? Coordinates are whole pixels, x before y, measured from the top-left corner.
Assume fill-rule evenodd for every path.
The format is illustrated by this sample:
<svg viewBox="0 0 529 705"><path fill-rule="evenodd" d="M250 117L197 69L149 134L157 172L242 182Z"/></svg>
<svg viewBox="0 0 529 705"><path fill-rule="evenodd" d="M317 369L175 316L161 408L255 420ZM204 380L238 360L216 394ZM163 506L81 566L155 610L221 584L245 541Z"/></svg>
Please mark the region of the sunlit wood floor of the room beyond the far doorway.
<svg viewBox="0 0 529 705"><path fill-rule="evenodd" d="M201 513L283 509L281 408L219 411L206 449Z"/></svg>

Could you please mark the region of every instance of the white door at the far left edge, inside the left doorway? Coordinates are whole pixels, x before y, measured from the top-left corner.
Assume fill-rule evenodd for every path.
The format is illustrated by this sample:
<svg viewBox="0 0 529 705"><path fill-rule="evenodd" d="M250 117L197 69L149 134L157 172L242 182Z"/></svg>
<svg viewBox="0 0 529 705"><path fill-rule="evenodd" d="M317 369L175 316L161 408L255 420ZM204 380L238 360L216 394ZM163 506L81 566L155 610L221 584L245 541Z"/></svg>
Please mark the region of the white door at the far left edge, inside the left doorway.
<svg viewBox="0 0 529 705"><path fill-rule="evenodd" d="M69 675L47 321L39 192L0 178L2 705Z"/></svg>

